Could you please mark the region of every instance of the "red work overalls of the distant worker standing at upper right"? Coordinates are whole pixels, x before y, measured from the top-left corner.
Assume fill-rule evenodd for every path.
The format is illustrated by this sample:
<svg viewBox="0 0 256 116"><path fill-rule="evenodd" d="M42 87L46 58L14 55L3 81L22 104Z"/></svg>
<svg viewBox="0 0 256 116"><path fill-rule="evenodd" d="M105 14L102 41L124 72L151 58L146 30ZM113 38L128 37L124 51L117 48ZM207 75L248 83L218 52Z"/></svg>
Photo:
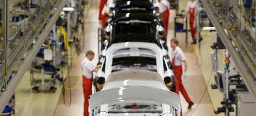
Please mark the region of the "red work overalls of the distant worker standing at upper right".
<svg viewBox="0 0 256 116"><path fill-rule="evenodd" d="M190 32L191 32L191 36L192 36L193 42L196 42L196 39L195 39L196 28L194 26L194 23L195 23L195 8L189 8Z"/></svg>

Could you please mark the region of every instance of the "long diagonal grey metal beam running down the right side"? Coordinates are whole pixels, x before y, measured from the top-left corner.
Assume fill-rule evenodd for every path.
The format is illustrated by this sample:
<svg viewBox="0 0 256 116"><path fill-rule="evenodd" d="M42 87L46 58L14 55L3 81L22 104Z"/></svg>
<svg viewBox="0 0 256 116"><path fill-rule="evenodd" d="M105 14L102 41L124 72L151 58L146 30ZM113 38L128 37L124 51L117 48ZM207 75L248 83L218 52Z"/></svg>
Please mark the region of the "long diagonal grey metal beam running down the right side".
<svg viewBox="0 0 256 116"><path fill-rule="evenodd" d="M214 9L214 7L209 2L209 0L202 0L202 4L204 6L204 9L207 11L209 19L212 21L213 25L215 26L220 39L222 40L226 49L229 51L230 55L232 56L234 63L237 66L237 69L239 70L239 73L241 74L244 80L244 83L246 84L254 100L256 100L256 83L255 83L256 80L255 80L254 74L252 73L253 71L246 65L241 55L238 53L237 48L233 46L230 36L228 36L225 33L224 31L225 27L221 25L220 22L222 21L216 9Z"/></svg>

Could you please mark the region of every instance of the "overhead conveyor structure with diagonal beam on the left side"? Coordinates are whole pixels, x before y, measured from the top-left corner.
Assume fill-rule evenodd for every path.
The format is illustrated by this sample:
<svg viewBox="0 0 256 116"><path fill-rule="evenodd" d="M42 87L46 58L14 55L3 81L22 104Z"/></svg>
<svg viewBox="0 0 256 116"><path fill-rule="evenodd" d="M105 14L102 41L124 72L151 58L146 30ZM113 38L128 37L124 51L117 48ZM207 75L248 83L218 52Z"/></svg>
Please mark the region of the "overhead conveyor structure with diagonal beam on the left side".
<svg viewBox="0 0 256 116"><path fill-rule="evenodd" d="M0 52L2 64L0 64L0 111L8 103L14 94L24 74L30 67L41 45L47 39L49 32L66 4L66 0L44 0L38 6L33 15L24 20L24 28L10 37L9 4L11 0L2 0L3 12L3 45ZM43 3L44 2L44 3ZM30 6L30 5L28 5ZM12 78L8 78L13 74Z"/></svg>

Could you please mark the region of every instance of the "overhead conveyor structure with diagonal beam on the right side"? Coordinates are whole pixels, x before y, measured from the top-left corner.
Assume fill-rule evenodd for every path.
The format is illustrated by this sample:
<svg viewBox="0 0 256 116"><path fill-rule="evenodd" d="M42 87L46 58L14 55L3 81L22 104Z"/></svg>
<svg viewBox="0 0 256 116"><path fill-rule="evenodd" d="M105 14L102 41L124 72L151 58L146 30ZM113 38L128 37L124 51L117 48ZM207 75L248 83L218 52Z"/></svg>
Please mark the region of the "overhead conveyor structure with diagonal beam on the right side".
<svg viewBox="0 0 256 116"><path fill-rule="evenodd" d="M224 6L227 4L226 2L223 5L219 4L221 0L201 1L208 18L231 55L244 83L256 100L256 37L253 37L255 33L252 34L241 28L241 18L231 12L232 7Z"/></svg>

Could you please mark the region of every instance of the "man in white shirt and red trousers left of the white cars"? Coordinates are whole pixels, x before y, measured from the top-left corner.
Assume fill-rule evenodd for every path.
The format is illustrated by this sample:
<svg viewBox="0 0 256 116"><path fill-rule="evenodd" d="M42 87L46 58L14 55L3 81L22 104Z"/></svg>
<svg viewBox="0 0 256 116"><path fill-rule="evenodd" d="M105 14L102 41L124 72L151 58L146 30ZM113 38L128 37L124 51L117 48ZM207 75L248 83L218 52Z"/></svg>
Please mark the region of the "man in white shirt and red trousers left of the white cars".
<svg viewBox="0 0 256 116"><path fill-rule="evenodd" d="M89 95L92 94L92 82L93 82L93 72L98 72L100 65L93 65L92 60L94 59L95 53L92 51L87 51L85 53L85 60L82 62L82 73L83 73L83 90L84 90L84 116L89 116L88 106L89 106Z"/></svg>

